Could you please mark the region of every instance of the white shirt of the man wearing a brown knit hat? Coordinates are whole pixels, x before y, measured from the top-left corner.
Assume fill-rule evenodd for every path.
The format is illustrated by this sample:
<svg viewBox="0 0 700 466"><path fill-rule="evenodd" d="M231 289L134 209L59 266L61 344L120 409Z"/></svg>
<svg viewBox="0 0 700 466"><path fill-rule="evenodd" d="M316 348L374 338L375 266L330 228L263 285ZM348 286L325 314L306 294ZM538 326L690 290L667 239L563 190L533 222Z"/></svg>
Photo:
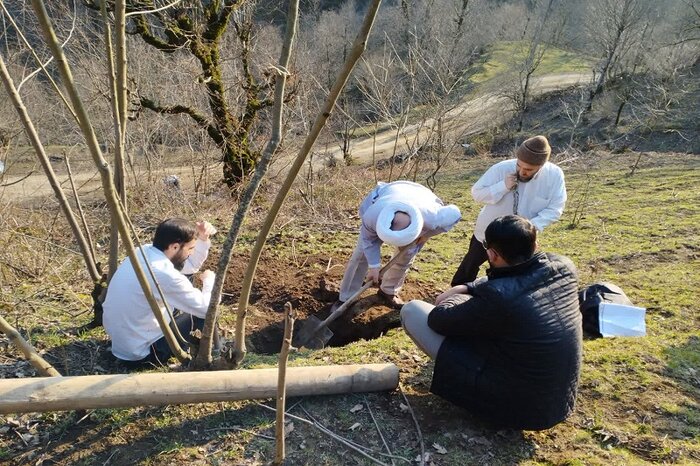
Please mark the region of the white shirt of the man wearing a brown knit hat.
<svg viewBox="0 0 700 466"><path fill-rule="evenodd" d="M506 188L507 175L516 172L516 159L504 160L486 170L472 187L472 196L486 204L479 212L474 236L484 241L486 227L498 217L517 213L529 219L538 231L556 222L566 204L564 172L551 162L545 163L528 182L519 182L515 190ZM518 211L513 211L515 193L518 193Z"/></svg>

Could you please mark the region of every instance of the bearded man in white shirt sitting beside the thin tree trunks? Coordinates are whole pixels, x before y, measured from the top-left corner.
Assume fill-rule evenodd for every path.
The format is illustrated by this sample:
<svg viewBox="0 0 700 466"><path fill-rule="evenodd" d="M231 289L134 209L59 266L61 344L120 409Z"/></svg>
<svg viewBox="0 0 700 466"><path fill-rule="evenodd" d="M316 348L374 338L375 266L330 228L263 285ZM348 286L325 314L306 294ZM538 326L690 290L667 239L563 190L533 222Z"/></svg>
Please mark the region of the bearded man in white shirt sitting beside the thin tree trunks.
<svg viewBox="0 0 700 466"><path fill-rule="evenodd" d="M153 244L143 246L136 254L159 303L166 322L170 316L147 272L146 260L163 290L170 309L177 309L175 324L180 334L193 343L192 332L204 326L215 274L200 274L199 290L186 275L199 270L209 254L209 236L216 230L208 222L191 222L171 218L156 228ZM112 339L112 354L128 367L164 365L173 355L156 317L136 277L129 258L120 265L110 280L104 302L104 327Z"/></svg>

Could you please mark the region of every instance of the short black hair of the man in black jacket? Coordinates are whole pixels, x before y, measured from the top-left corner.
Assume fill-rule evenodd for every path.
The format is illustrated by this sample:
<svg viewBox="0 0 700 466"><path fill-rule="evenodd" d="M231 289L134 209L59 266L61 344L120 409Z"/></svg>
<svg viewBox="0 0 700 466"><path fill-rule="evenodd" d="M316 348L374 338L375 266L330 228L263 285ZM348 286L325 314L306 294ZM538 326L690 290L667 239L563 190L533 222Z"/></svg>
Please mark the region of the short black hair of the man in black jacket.
<svg viewBox="0 0 700 466"><path fill-rule="evenodd" d="M537 247L537 229L518 215L498 217L486 227L485 246L495 249L509 265L530 259Z"/></svg>

